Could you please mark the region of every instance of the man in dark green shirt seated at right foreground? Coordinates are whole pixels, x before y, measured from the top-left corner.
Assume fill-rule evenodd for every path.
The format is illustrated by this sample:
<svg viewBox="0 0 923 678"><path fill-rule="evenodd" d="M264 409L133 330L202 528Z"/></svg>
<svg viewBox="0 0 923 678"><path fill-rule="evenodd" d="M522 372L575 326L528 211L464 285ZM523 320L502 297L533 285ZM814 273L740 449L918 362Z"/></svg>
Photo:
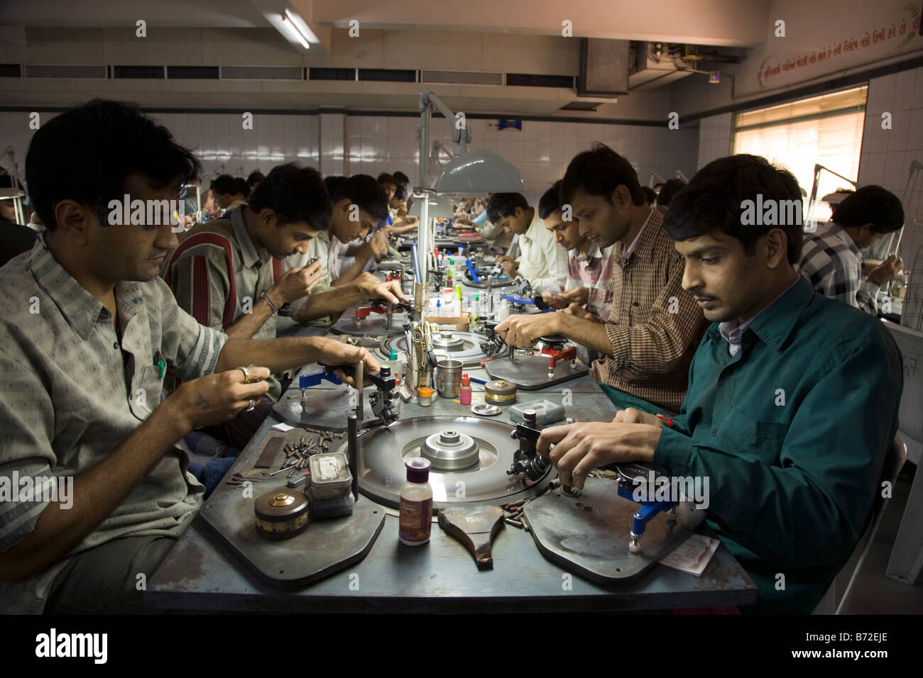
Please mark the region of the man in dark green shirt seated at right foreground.
<svg viewBox="0 0 923 678"><path fill-rule="evenodd" d="M665 220L683 288L713 322L679 414L629 409L539 440L577 487L629 460L708 478L708 525L759 587L744 612L814 609L867 525L897 431L900 352L877 319L797 275L800 210L795 178L762 158L702 168Z"/></svg>

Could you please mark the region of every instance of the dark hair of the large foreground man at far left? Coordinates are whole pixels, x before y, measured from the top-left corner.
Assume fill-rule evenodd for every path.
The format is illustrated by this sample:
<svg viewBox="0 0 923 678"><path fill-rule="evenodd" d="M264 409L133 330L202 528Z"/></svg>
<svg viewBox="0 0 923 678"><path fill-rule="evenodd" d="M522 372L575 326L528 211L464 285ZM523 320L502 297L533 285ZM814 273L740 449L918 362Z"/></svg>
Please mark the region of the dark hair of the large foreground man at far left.
<svg viewBox="0 0 923 678"><path fill-rule="evenodd" d="M192 184L201 171L170 130L124 101L94 99L55 116L35 132L26 154L31 205L49 231L61 200L86 205L108 224L109 202L123 199L131 172L164 187L177 177Z"/></svg>

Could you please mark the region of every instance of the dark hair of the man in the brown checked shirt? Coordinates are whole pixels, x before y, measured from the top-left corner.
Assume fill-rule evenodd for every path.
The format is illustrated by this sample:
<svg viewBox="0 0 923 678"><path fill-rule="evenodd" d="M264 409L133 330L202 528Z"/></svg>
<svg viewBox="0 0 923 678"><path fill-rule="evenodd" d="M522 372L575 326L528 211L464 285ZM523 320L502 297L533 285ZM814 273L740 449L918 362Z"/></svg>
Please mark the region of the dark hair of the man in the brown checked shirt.
<svg viewBox="0 0 923 678"><path fill-rule="evenodd" d="M597 142L592 149L578 153L570 161L568 171L561 180L561 204L569 203L578 189L591 196L605 196L611 204L612 193L619 185L629 189L632 203L644 204L638 172L635 172L628 159Z"/></svg>

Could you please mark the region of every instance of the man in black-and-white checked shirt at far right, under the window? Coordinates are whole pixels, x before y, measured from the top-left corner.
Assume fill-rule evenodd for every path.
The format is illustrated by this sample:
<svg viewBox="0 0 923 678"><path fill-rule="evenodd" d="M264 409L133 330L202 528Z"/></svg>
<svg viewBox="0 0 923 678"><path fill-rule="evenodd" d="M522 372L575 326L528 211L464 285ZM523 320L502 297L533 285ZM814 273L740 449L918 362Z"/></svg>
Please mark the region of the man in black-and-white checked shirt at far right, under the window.
<svg viewBox="0 0 923 678"><path fill-rule="evenodd" d="M830 221L816 232L805 233L796 270L823 296L877 315L881 285L892 280L904 264L899 256L889 256L863 282L859 250L903 225L904 208L897 196L881 186L862 186L833 209Z"/></svg>

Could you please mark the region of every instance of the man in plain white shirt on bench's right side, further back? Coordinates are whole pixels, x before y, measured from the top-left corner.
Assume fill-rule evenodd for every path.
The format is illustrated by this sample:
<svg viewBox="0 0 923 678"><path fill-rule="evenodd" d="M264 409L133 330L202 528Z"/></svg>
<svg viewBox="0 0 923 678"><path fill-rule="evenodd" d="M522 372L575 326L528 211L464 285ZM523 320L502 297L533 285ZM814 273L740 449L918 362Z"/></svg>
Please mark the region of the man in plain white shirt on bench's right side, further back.
<svg viewBox="0 0 923 678"><path fill-rule="evenodd" d="M568 253L555 243L538 210L519 193L495 193L487 205L487 219L506 232L519 235L520 256L497 257L510 278L529 280L533 291L563 289L568 280Z"/></svg>

